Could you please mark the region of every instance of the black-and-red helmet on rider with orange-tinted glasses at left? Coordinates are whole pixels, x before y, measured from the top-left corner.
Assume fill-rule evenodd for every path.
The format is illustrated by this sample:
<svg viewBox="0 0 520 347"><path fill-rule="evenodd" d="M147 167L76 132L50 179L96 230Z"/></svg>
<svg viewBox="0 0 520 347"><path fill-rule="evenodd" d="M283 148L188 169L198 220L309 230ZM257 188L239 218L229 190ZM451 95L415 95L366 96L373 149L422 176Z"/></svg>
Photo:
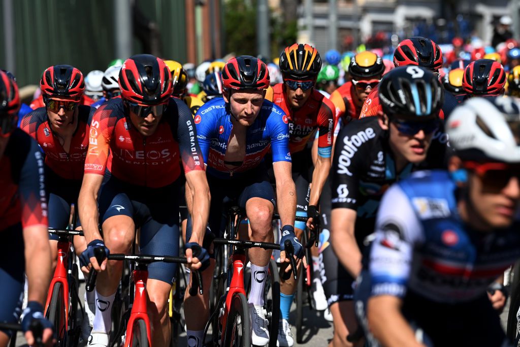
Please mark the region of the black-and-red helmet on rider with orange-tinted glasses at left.
<svg viewBox="0 0 520 347"><path fill-rule="evenodd" d="M85 81L80 70L70 65L55 65L43 72L40 89L44 98L79 102L85 90Z"/></svg>

